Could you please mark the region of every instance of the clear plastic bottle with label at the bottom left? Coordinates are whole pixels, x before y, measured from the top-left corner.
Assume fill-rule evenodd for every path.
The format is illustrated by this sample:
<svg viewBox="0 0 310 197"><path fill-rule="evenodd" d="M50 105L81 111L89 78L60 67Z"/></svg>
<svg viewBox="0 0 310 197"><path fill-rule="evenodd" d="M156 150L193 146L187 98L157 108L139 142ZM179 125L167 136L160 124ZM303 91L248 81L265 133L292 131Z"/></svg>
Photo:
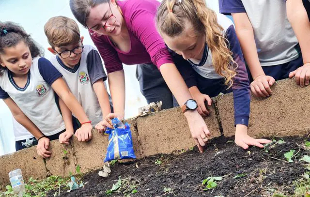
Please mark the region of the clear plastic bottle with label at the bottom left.
<svg viewBox="0 0 310 197"><path fill-rule="evenodd" d="M10 182L13 188L13 192L19 197L22 197L25 193L25 182L23 175L21 174L21 169L15 169L9 173Z"/></svg>

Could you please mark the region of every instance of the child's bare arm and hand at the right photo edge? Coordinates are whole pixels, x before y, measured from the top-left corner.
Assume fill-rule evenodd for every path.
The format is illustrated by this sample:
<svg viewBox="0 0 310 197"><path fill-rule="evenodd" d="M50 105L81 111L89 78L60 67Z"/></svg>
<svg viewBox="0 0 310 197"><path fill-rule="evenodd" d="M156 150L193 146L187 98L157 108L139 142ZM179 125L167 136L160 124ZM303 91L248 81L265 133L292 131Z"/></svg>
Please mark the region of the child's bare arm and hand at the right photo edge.
<svg viewBox="0 0 310 197"><path fill-rule="evenodd" d="M307 86L310 79L310 21L302 0L287 0L286 13L297 36L304 61L304 65L291 72L290 77L295 76L298 85Z"/></svg>

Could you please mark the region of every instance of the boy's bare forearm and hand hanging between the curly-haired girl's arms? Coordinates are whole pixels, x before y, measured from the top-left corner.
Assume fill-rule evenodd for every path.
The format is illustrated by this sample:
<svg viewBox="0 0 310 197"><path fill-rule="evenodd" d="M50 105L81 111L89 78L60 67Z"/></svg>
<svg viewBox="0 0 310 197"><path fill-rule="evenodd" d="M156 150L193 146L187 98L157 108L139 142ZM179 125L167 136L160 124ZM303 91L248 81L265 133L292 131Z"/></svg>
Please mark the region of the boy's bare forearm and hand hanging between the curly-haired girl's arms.
<svg viewBox="0 0 310 197"><path fill-rule="evenodd" d="M64 104L61 98L59 99L59 106L62 112L62 119L66 127L66 131L59 136L59 142L61 144L69 144L69 139L74 133L73 124L72 124L72 112Z"/></svg>

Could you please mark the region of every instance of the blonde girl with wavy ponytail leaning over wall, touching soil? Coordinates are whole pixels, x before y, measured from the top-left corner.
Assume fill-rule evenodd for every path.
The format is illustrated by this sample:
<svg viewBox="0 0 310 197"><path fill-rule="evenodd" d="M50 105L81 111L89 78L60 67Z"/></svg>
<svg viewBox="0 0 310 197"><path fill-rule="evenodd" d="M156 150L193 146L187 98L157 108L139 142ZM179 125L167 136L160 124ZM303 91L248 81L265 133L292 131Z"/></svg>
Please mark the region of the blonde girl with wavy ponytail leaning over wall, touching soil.
<svg viewBox="0 0 310 197"><path fill-rule="evenodd" d="M266 139L248 136L250 89L248 75L232 21L209 9L204 0L163 0L156 25L175 56L191 66L178 66L202 116L208 115L204 102L233 91L235 143L263 148Z"/></svg>

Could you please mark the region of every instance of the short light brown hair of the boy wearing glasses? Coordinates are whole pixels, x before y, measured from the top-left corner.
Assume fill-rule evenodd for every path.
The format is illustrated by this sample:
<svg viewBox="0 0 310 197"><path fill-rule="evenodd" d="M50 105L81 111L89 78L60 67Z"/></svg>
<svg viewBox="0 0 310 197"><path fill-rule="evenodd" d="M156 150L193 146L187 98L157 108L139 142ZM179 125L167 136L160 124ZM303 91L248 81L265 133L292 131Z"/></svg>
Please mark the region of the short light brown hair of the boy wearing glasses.
<svg viewBox="0 0 310 197"><path fill-rule="evenodd" d="M65 16L50 18L44 25L44 32L52 48L76 44L80 40L78 24Z"/></svg>

